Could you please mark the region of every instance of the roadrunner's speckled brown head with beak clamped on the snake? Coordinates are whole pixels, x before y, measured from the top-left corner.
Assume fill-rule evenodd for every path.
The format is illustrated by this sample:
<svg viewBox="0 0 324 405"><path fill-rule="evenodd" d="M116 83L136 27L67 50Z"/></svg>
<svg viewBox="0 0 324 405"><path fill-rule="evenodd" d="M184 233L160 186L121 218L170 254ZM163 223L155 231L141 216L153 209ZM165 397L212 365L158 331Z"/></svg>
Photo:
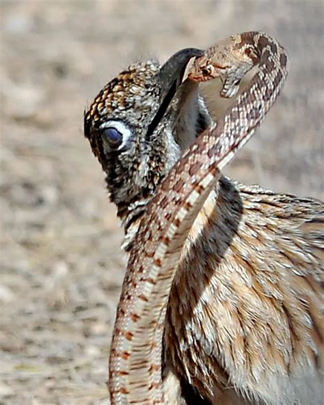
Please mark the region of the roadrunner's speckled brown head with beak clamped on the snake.
<svg viewBox="0 0 324 405"><path fill-rule="evenodd" d="M183 49L160 66L137 62L112 79L84 116L84 133L107 174L124 221L146 205L185 148L211 123L198 85L183 81L199 49Z"/></svg>

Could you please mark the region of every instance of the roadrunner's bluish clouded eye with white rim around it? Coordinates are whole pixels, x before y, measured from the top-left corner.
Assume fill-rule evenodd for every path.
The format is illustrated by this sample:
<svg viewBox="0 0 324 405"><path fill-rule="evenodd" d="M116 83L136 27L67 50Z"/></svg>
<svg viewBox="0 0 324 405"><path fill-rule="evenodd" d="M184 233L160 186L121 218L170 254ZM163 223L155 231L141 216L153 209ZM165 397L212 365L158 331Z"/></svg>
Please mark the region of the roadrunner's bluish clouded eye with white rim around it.
<svg viewBox="0 0 324 405"><path fill-rule="evenodd" d="M100 135L106 153L120 151L129 143L131 129L124 122L109 120L100 126Z"/></svg>

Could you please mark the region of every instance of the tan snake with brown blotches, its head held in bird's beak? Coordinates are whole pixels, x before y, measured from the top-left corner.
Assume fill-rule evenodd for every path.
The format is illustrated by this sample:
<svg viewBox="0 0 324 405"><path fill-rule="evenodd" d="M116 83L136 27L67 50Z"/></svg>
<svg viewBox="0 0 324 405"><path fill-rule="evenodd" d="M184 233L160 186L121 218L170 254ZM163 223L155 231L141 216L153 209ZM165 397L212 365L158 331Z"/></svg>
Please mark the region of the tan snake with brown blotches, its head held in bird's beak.
<svg viewBox="0 0 324 405"><path fill-rule="evenodd" d="M219 180L220 170L251 138L287 75L288 57L260 32L231 36L196 57L188 80L219 77L221 96L237 94L242 77L258 66L249 86L217 125L191 144L148 205L131 250L109 358L111 404L164 404L162 342L177 263L191 226Z"/></svg>

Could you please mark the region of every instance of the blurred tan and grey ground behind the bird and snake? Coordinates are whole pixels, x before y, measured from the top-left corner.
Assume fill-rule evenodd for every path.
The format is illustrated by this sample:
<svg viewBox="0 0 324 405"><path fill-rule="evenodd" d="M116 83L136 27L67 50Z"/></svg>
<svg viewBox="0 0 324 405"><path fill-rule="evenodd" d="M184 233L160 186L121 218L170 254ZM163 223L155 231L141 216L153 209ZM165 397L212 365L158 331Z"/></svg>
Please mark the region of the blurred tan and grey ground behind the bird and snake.
<svg viewBox="0 0 324 405"><path fill-rule="evenodd" d="M227 173L323 198L321 0L0 1L0 404L108 404L126 265L83 109L118 71L262 30L291 57L280 99ZM204 88L220 114L215 88Z"/></svg>

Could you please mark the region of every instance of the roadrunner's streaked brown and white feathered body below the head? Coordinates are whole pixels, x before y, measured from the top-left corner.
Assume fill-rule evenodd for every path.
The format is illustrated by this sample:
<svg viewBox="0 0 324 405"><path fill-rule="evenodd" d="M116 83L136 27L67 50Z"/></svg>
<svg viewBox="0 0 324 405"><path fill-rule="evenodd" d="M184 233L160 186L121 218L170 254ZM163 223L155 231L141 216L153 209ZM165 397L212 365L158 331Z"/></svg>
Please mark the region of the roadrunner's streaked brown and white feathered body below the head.
<svg viewBox="0 0 324 405"><path fill-rule="evenodd" d="M208 197L172 285L165 355L211 403L231 387L251 403L321 403L323 220L321 202L225 177Z"/></svg>

